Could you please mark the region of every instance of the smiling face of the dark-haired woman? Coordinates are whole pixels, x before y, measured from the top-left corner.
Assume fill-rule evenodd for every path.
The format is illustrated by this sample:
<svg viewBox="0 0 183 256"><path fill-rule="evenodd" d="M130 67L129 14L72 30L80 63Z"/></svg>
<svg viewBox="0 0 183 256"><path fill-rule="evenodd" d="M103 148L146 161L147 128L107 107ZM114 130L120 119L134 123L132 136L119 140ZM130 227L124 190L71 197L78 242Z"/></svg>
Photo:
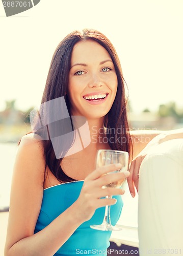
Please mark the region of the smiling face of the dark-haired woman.
<svg viewBox="0 0 183 256"><path fill-rule="evenodd" d="M75 44L71 56L68 97L72 115L105 116L117 91L117 75L106 49L93 40Z"/></svg>

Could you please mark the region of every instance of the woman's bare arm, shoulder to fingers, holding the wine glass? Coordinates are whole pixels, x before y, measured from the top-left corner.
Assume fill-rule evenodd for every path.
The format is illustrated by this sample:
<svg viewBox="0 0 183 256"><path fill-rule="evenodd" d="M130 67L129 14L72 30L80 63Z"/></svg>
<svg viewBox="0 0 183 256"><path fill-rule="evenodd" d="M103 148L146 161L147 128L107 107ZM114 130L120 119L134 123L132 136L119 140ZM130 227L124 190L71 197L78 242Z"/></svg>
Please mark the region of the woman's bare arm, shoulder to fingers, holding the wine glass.
<svg viewBox="0 0 183 256"><path fill-rule="evenodd" d="M102 186L129 175L103 175L120 168L121 164L94 170L85 179L79 198L47 227L34 234L43 197L45 160L41 142L30 139L30 136L21 140L15 160L5 256L53 255L77 227L93 216L96 208L116 202L102 197L124 193L122 189L102 189Z"/></svg>

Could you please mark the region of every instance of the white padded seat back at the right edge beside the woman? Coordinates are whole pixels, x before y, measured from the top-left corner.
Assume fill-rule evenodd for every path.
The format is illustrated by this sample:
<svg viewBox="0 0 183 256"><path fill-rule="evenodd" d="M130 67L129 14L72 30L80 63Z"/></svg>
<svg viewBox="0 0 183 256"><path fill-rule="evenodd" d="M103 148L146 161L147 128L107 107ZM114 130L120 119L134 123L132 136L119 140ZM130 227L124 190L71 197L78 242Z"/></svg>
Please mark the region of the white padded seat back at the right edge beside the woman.
<svg viewBox="0 0 183 256"><path fill-rule="evenodd" d="M154 147L141 164L138 232L141 256L183 254L183 139Z"/></svg>

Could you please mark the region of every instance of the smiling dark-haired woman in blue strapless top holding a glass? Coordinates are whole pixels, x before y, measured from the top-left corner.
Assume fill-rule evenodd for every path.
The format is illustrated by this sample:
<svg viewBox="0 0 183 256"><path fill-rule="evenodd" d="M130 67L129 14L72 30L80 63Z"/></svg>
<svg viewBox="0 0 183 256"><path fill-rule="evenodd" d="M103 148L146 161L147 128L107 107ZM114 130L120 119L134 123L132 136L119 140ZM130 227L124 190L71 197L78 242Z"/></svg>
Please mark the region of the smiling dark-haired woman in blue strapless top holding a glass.
<svg viewBox="0 0 183 256"><path fill-rule="evenodd" d="M111 232L94 230L90 225L101 223L106 205L113 205L112 223L117 222L123 205L119 195L124 190L101 187L128 177L134 196L134 182L138 186L138 168L145 153L137 155L147 144L144 138L151 140L158 134L129 134L120 62L109 39L98 31L75 31L58 45L42 104L59 97L64 97L70 116L87 119L90 143L81 151L67 154L75 143L73 135L69 146L56 157L55 148L64 146L57 142L62 125L54 131L55 140L50 136L49 125L47 131L37 124L39 129L21 139L12 179L6 256L107 255ZM45 117L47 112L45 106L41 115ZM77 120L74 123L72 119L71 123L73 130L80 126ZM44 137L45 131L48 138ZM95 155L100 148L127 151L130 161L134 158L130 176L129 172L103 176L120 164L95 169ZM107 195L114 197L104 199Z"/></svg>

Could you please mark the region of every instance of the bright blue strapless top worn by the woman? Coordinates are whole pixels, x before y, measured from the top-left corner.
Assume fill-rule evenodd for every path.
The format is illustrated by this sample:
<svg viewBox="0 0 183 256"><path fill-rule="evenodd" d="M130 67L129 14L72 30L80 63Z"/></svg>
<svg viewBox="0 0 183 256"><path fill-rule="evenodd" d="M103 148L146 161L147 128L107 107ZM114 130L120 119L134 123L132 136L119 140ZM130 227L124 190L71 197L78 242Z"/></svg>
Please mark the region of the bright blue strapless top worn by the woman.
<svg viewBox="0 0 183 256"><path fill-rule="evenodd" d="M34 233L39 232L49 225L63 211L71 206L79 197L83 181L74 181L48 187L43 190L43 200L40 214L36 223ZM117 203L111 206L111 222L115 225L118 221L123 202L121 196L114 196ZM101 224L104 217L104 207L95 210L93 217L80 225L72 236L54 254L56 256L73 255L107 255L110 246L111 231L101 231L90 228L90 225ZM73 212L74 218L74 212Z"/></svg>

